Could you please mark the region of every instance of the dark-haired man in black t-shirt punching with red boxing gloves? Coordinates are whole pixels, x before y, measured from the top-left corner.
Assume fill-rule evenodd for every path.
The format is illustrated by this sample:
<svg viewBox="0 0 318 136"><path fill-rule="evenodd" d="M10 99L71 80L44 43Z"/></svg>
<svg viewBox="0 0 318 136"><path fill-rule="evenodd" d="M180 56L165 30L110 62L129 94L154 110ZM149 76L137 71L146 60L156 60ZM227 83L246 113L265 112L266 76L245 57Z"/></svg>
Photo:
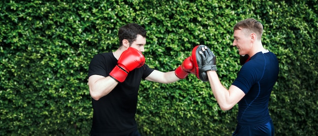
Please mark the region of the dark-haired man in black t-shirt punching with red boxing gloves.
<svg viewBox="0 0 318 136"><path fill-rule="evenodd" d="M141 79L171 83L185 78L193 70L189 57L175 71L149 68L142 54L146 30L138 24L120 27L118 37L119 48L115 52L95 55L89 64L91 135L140 135L135 114Z"/></svg>

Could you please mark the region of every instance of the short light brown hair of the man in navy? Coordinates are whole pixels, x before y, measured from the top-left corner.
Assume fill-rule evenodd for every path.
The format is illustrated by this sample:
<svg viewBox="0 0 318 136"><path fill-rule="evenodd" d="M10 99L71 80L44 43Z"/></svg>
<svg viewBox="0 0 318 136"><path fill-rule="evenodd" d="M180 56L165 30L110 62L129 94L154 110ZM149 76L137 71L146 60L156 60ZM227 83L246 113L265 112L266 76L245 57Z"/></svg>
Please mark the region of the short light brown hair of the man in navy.
<svg viewBox="0 0 318 136"><path fill-rule="evenodd" d="M257 21L253 18L248 18L245 20L242 20L235 24L233 30L241 30L241 29L247 29L249 32L254 32L258 35L259 39L262 38L263 35L263 25L261 22Z"/></svg>

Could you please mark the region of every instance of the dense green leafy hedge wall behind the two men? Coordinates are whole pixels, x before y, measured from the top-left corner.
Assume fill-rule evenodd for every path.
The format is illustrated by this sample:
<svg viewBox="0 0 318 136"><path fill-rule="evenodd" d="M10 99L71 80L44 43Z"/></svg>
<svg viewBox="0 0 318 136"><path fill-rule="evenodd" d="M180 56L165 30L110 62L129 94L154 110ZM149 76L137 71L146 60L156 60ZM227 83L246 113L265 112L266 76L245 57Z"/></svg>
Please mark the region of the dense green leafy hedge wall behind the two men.
<svg viewBox="0 0 318 136"><path fill-rule="evenodd" d="M233 25L256 18L280 63L269 104L276 135L317 135L318 2L57 0L0 3L0 135L88 135L88 65L118 48L117 30L148 31L146 63L171 71L197 44L217 56L230 86L240 69ZM208 82L142 81L136 120L143 135L231 135L237 106L221 111Z"/></svg>

